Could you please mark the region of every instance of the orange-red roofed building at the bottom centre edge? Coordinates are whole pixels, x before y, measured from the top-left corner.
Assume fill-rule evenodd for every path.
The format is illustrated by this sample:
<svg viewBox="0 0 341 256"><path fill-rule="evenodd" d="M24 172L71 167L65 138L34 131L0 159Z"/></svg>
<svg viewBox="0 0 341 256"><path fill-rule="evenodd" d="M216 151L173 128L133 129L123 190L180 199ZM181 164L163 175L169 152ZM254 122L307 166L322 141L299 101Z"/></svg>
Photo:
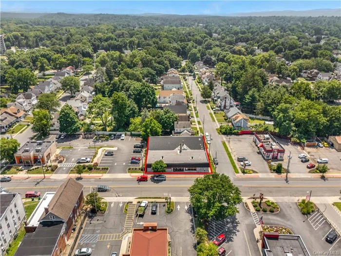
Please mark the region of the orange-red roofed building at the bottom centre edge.
<svg viewBox="0 0 341 256"><path fill-rule="evenodd" d="M168 256L168 228L157 228L157 223L144 223L134 228L128 254L123 256Z"/></svg>

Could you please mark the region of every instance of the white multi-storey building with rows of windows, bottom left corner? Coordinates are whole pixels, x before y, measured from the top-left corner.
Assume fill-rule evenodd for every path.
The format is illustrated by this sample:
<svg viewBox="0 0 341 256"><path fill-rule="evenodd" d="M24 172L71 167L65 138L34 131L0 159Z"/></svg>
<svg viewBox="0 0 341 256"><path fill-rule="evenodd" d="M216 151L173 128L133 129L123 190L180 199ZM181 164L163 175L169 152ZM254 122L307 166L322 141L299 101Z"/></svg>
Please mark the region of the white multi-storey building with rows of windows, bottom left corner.
<svg viewBox="0 0 341 256"><path fill-rule="evenodd" d="M1 192L0 201L0 247L3 253L12 242L14 235L19 231L26 214L19 193Z"/></svg>

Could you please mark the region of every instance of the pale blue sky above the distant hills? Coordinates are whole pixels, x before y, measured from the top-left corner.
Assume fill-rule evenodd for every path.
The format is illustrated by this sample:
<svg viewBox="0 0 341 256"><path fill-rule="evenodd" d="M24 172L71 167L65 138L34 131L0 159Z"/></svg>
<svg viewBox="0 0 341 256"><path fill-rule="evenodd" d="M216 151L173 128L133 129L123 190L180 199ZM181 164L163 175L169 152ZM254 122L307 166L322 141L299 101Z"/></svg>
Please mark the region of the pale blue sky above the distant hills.
<svg viewBox="0 0 341 256"><path fill-rule="evenodd" d="M84 0L39 0L15 1L1 0L1 12L36 12L36 13L110 13L110 14L143 14L162 13L180 15L228 15L233 13L261 11L303 11L313 9L335 9L341 7L341 1L323 0L265 0L265 1L84 1Z"/></svg>

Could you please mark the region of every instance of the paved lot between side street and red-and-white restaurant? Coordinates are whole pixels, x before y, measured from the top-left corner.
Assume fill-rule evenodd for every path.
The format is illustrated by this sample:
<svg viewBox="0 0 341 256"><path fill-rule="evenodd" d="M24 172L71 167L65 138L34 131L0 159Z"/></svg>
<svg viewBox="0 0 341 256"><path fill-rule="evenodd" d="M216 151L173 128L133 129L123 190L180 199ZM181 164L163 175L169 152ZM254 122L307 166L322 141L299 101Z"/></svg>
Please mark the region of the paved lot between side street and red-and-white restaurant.
<svg viewBox="0 0 341 256"><path fill-rule="evenodd" d="M237 157L246 157L251 162L251 166L247 169L252 169L258 173L269 173L266 161L259 153L257 147L252 141L253 135L231 136L230 146L233 151L232 156L237 163ZM228 141L228 136L227 136ZM240 165L240 163L238 162Z"/></svg>

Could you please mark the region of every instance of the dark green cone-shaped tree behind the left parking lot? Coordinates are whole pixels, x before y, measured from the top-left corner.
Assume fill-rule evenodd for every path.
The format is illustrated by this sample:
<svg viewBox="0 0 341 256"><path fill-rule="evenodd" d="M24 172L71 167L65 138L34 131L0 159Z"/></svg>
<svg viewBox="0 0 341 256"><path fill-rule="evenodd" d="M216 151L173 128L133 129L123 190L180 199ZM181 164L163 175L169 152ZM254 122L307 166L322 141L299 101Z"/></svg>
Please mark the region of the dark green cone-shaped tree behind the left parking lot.
<svg viewBox="0 0 341 256"><path fill-rule="evenodd" d="M59 113L59 131L61 133L75 134L80 130L80 122L76 112L69 104L65 104Z"/></svg>

